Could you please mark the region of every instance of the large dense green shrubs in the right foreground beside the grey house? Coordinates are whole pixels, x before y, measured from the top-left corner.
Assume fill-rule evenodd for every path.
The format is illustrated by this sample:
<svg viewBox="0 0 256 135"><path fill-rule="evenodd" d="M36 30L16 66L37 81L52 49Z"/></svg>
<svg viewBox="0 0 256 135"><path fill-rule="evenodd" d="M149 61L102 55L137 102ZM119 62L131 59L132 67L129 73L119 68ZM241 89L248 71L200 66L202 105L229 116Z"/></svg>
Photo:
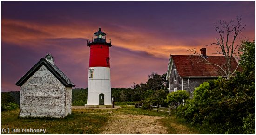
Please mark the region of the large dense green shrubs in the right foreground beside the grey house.
<svg viewBox="0 0 256 135"><path fill-rule="evenodd" d="M177 116L193 124L202 124L214 133L254 133L253 79L237 73L230 80L218 78L205 82L195 89L193 100L178 107Z"/></svg>

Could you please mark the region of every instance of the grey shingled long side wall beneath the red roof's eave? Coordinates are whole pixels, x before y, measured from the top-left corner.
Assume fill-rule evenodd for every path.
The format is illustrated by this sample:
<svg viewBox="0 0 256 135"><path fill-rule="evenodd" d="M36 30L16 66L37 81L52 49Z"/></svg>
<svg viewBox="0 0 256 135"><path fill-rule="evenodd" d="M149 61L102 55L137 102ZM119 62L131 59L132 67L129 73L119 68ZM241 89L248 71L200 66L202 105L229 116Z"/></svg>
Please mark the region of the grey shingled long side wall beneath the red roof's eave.
<svg viewBox="0 0 256 135"><path fill-rule="evenodd" d="M189 79L189 82L188 82ZM195 88L198 87L203 82L207 82L209 80L213 80L215 78L183 78L183 88L184 90L189 92L189 97L193 98ZM189 85L188 85L189 83Z"/></svg>

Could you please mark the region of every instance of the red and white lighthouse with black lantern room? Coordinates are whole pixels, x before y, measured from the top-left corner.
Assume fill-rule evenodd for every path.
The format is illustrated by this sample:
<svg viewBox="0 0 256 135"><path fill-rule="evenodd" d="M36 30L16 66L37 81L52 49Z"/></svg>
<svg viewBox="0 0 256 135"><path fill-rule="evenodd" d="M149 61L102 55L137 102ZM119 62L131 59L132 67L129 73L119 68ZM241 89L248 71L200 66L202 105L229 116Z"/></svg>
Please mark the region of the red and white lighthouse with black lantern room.
<svg viewBox="0 0 256 135"><path fill-rule="evenodd" d="M87 40L90 47L88 69L88 97L85 107L111 107L110 57L111 40L99 28L92 39Z"/></svg>

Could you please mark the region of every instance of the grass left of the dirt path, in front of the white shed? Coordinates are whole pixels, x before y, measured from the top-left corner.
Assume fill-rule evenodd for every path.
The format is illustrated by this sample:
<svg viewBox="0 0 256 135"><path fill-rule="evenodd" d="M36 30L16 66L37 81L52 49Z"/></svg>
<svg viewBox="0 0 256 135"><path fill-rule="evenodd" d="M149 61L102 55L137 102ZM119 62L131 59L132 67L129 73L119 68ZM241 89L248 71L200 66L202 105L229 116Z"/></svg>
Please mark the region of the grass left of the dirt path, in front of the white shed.
<svg viewBox="0 0 256 135"><path fill-rule="evenodd" d="M84 110L86 111L86 110ZM19 118L19 109L2 112L1 127L13 129L46 129L47 134L97 134L106 122L107 116L90 115L73 111L63 119L57 118Z"/></svg>

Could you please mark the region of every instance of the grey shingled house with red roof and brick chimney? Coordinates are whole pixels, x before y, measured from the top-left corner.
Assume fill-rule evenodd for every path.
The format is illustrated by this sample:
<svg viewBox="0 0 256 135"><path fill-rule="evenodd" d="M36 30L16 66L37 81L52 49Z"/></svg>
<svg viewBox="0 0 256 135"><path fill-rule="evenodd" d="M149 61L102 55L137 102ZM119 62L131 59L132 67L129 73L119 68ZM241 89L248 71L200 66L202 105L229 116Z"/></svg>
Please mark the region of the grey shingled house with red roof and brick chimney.
<svg viewBox="0 0 256 135"><path fill-rule="evenodd" d="M206 56L206 48L200 49L201 55L210 63L226 69L224 56ZM237 67L235 58L231 59L231 71ZM166 80L169 80L169 91L186 90L189 97L193 97L195 87L205 81L226 77L225 73L216 65L208 64L201 56L170 55Z"/></svg>

